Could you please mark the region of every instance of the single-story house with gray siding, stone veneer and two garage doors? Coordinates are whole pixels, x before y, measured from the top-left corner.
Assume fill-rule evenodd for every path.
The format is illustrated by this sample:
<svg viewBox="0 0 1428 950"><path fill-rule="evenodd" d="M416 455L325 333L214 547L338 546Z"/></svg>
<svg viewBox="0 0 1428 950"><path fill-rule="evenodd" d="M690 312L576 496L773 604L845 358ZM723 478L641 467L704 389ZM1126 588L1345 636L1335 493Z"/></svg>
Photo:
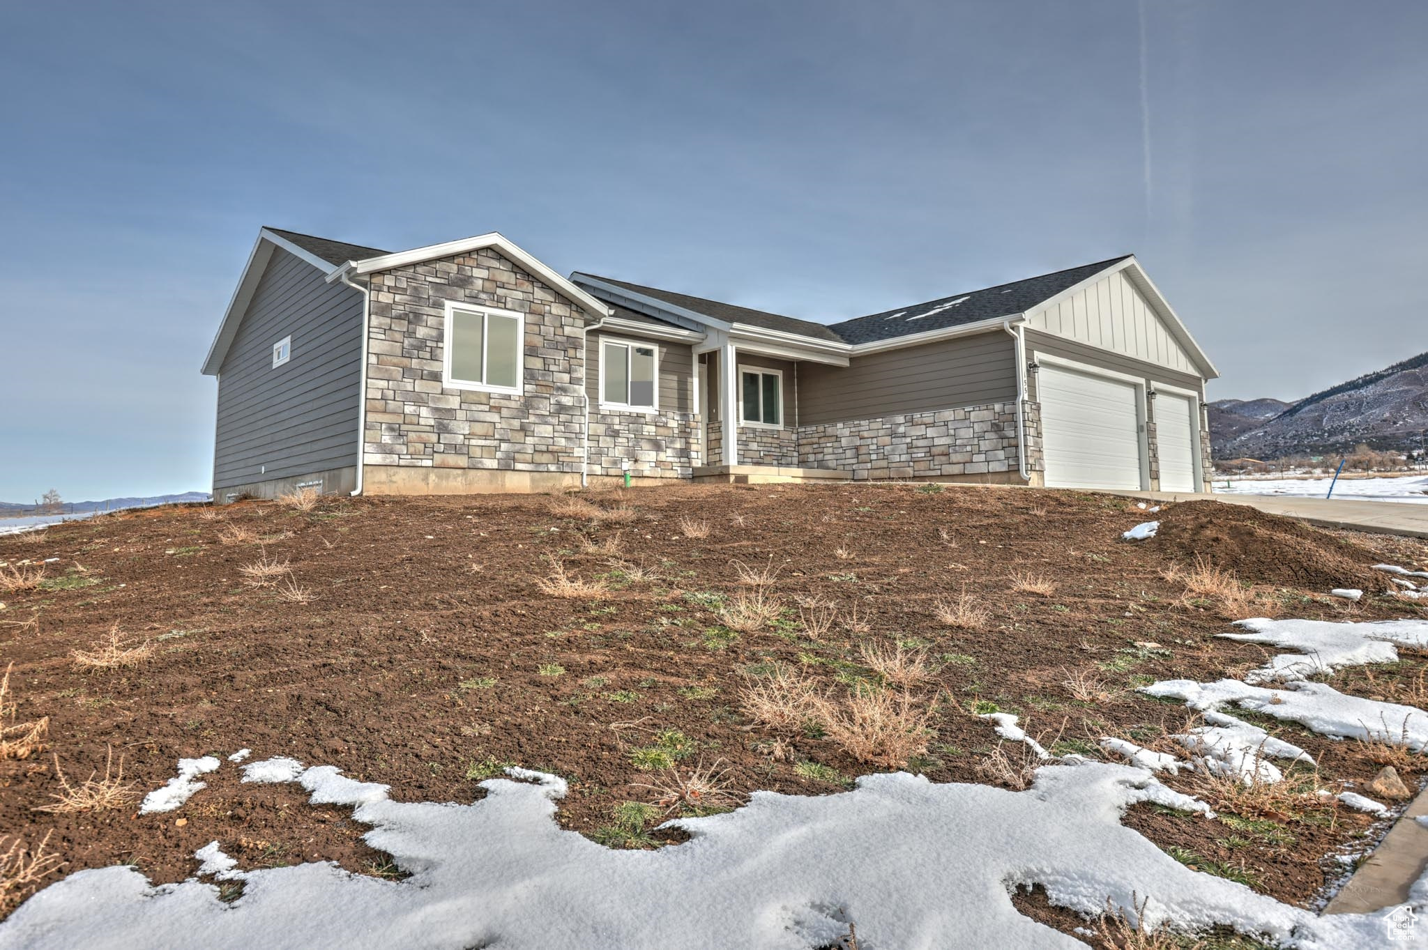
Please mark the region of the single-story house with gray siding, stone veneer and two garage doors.
<svg viewBox="0 0 1428 950"><path fill-rule="evenodd" d="M921 479L1205 491L1217 375L1132 255L820 324L500 234L263 228L208 351L213 494Z"/></svg>

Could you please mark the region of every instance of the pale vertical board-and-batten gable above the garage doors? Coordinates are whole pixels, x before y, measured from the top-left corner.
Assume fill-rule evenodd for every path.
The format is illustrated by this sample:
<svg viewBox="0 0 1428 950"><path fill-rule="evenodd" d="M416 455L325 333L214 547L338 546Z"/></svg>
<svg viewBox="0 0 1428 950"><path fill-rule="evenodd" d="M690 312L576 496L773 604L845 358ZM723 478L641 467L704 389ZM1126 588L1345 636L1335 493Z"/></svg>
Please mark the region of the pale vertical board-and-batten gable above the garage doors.
<svg viewBox="0 0 1428 950"><path fill-rule="evenodd" d="M1125 271L1108 274L1067 300L1030 314L1028 328L1198 378L1195 361L1175 341Z"/></svg>

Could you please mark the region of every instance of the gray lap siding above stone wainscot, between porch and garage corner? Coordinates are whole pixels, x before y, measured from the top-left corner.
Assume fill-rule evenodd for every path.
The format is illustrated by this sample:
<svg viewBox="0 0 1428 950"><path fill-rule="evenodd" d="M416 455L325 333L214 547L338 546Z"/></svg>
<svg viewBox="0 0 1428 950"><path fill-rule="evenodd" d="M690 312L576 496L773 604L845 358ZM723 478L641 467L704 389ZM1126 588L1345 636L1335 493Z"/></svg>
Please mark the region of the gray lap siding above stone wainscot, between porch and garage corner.
<svg viewBox="0 0 1428 950"><path fill-rule="evenodd" d="M995 332L854 357L848 367L798 365L798 422L851 422L1017 398L1017 351Z"/></svg>

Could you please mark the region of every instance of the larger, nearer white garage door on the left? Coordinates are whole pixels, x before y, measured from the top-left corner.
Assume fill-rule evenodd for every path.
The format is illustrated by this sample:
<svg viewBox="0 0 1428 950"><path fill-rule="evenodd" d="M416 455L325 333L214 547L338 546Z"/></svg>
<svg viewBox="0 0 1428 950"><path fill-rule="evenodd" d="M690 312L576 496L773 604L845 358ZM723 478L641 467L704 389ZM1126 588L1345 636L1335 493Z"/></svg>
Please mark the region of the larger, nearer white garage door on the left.
<svg viewBox="0 0 1428 950"><path fill-rule="evenodd" d="M1134 385L1042 365L1038 395L1050 488L1141 486Z"/></svg>

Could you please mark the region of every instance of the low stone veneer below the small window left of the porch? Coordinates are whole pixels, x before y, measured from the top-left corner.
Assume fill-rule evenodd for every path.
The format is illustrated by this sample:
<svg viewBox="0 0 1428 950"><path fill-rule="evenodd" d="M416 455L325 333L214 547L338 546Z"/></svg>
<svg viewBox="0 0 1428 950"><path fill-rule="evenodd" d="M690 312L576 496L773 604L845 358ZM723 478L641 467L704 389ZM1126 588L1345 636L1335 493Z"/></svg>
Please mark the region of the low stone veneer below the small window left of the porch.
<svg viewBox="0 0 1428 950"><path fill-rule="evenodd" d="M638 478L693 478L700 461L700 417L694 412L600 412L590 408L590 474L621 475L621 461Z"/></svg>

